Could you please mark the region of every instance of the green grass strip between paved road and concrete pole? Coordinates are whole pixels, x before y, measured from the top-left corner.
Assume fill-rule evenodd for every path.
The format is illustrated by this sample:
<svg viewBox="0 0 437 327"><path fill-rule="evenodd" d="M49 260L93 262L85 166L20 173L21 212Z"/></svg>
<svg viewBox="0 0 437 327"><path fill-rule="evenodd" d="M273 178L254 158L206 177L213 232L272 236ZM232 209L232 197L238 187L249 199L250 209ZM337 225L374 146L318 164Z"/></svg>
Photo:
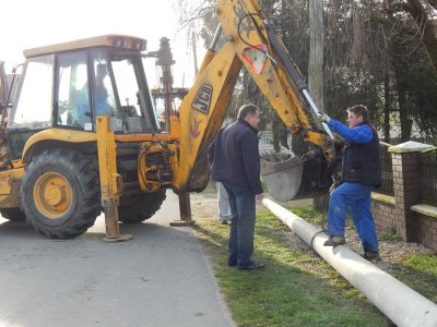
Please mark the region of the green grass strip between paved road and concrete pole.
<svg viewBox="0 0 437 327"><path fill-rule="evenodd" d="M213 218L198 219L194 226L238 326L390 325L305 243L293 245L296 238L270 211L257 213L253 259L265 264L264 269L240 271L226 266L228 229Z"/></svg>

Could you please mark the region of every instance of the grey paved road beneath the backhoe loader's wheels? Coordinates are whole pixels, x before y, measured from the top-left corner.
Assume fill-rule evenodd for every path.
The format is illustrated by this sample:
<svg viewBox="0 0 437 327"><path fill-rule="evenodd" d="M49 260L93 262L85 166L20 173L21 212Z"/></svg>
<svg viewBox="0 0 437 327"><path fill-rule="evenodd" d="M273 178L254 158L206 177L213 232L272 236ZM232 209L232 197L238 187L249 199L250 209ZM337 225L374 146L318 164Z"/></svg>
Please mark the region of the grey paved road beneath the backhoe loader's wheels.
<svg viewBox="0 0 437 327"><path fill-rule="evenodd" d="M134 239L50 240L0 218L0 326L234 326L199 241L172 191Z"/></svg>

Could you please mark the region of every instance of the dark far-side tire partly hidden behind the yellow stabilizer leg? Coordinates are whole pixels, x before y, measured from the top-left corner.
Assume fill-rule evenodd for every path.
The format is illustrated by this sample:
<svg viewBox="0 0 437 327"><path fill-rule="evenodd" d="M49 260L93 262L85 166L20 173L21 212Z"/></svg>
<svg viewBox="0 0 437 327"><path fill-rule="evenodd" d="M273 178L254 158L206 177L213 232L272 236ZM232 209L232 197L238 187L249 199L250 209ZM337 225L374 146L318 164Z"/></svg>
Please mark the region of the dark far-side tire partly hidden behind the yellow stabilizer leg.
<svg viewBox="0 0 437 327"><path fill-rule="evenodd" d="M144 221L161 208L165 197L165 191L123 196L118 207L118 220L127 223Z"/></svg>

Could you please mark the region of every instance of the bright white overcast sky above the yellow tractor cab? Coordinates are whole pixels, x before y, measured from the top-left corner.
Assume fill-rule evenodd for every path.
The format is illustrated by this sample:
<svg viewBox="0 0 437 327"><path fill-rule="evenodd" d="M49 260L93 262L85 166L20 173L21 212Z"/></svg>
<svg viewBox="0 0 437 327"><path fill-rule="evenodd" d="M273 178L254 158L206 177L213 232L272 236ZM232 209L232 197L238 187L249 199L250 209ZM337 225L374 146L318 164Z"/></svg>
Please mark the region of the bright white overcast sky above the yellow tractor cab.
<svg viewBox="0 0 437 327"><path fill-rule="evenodd" d="M0 60L7 73L24 61L23 50L103 34L127 34L147 40L147 51L160 39L170 39L174 86L191 86L192 50L180 31L174 0L5 0L2 1ZM202 45L202 43L198 43ZM200 49L200 51L202 51ZM199 52L199 51L198 51ZM201 57L198 58L201 62ZM150 82L152 85L153 83ZM184 85L182 85L184 84Z"/></svg>

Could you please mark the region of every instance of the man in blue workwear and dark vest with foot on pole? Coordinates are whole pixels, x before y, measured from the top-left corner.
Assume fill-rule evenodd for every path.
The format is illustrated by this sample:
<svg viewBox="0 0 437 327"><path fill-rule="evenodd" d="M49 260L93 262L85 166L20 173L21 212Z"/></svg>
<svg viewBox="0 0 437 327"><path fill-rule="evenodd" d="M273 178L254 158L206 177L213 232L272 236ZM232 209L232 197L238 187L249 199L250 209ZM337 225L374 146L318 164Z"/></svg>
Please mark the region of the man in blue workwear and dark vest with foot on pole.
<svg viewBox="0 0 437 327"><path fill-rule="evenodd" d="M380 185L379 138L367 121L367 108L362 105L347 108L349 128L323 113L321 120L346 140L342 156L341 184L330 194L328 209L328 234L326 246L345 243L344 226L346 209L359 235L364 257L378 259L378 239L371 215L371 191Z"/></svg>

